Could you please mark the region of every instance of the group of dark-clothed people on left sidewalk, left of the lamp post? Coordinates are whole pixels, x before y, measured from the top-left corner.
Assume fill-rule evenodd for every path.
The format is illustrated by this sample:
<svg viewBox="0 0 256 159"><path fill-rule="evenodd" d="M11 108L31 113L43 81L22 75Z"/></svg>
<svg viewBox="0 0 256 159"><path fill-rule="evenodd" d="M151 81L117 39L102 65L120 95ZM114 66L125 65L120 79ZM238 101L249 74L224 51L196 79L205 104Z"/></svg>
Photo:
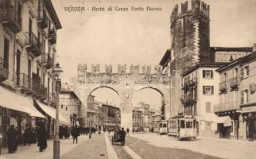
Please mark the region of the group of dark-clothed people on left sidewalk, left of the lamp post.
<svg viewBox="0 0 256 159"><path fill-rule="evenodd" d="M8 153L15 153L17 151L17 135L18 133L14 125L11 125L6 134ZM22 137L24 145L37 143L40 152L47 148L47 131L43 122L39 123L36 129L26 125Z"/></svg>

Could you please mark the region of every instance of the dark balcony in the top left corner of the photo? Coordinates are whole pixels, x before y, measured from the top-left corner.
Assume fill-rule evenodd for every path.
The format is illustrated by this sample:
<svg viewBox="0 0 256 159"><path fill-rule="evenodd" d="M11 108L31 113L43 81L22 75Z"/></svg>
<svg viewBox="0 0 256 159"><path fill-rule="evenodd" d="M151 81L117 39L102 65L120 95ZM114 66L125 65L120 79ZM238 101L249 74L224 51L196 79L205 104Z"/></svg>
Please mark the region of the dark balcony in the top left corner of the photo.
<svg viewBox="0 0 256 159"><path fill-rule="evenodd" d="M2 0L0 4L0 19L2 24L14 33L21 31L22 18L15 7L8 0Z"/></svg>

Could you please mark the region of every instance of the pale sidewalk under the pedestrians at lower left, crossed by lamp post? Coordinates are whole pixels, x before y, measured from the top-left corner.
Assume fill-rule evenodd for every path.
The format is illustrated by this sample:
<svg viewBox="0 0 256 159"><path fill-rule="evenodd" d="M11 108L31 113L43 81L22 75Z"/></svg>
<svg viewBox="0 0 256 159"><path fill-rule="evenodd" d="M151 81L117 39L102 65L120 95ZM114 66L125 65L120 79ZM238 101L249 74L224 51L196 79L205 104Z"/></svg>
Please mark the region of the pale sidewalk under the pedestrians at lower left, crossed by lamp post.
<svg viewBox="0 0 256 159"><path fill-rule="evenodd" d="M69 140L61 139L60 140L60 157L62 157L65 153L70 152L72 149L76 148L76 146L81 145L82 143L88 140L88 136L80 136L79 143L73 144L72 138ZM16 153L8 153L8 148L2 148L2 154L0 159L48 159L53 157L53 140L47 141L47 149L44 152L39 152L39 147L37 144L31 145L18 145Z"/></svg>

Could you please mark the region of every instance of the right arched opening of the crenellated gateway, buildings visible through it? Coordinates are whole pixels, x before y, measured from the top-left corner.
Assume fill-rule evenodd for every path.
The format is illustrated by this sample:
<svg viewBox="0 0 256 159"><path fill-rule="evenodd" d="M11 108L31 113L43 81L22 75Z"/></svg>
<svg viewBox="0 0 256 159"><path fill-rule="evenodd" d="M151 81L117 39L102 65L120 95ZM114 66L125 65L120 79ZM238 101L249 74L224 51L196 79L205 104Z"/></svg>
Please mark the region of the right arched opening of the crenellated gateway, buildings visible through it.
<svg viewBox="0 0 256 159"><path fill-rule="evenodd" d="M157 88L140 88L132 103L133 132L153 132L154 122L165 119L165 95Z"/></svg>

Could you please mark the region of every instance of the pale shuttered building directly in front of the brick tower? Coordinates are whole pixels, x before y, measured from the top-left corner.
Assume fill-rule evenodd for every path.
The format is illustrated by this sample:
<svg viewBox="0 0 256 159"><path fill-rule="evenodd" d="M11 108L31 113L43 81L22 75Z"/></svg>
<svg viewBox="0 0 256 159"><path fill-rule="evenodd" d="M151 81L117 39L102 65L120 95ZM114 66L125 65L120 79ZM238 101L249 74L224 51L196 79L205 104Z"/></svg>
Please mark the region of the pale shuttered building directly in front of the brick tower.
<svg viewBox="0 0 256 159"><path fill-rule="evenodd" d="M227 63L196 64L181 74L182 96L178 114L196 118L200 135L215 136L219 118L213 106L219 98L219 73L216 69ZM177 114L177 115L178 115Z"/></svg>

